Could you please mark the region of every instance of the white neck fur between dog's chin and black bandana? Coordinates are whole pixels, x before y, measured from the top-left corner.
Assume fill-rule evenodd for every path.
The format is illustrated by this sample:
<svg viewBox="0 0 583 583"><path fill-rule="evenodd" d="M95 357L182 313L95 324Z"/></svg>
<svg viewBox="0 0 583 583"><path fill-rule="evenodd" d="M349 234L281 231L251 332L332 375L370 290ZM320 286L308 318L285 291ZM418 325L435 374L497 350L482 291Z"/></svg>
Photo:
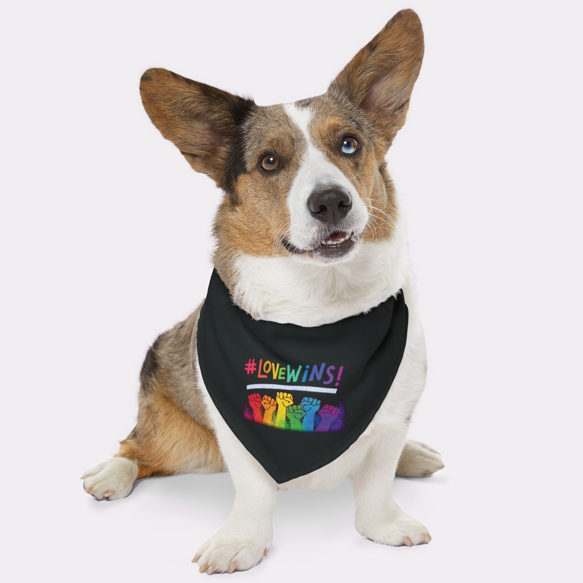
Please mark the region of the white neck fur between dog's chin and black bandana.
<svg viewBox="0 0 583 583"><path fill-rule="evenodd" d="M322 265L295 257L241 255L233 290L237 305L256 319L319 326L366 312L403 287L403 235L363 243L349 260ZM303 258L302 258L303 259Z"/></svg>

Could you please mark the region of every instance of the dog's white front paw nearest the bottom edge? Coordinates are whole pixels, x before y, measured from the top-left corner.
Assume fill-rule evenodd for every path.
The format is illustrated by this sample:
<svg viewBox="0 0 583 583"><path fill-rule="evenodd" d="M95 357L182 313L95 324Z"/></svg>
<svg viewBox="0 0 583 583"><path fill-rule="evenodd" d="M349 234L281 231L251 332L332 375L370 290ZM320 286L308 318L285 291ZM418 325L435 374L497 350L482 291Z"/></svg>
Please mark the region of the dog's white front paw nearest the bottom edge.
<svg viewBox="0 0 583 583"><path fill-rule="evenodd" d="M248 536L231 529L220 529L196 551L192 562L198 563L201 573L209 575L246 571L267 555L272 538L272 532L256 532L255 536Z"/></svg>

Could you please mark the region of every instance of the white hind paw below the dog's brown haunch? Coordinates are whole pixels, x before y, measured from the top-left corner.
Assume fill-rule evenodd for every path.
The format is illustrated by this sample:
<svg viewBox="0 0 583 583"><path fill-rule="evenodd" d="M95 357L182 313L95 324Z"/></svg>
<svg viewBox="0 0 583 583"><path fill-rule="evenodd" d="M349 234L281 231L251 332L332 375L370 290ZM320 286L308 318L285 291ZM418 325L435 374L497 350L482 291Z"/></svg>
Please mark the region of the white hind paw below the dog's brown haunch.
<svg viewBox="0 0 583 583"><path fill-rule="evenodd" d="M87 470L81 479L87 494L97 500L125 498L138 476L138 465L131 459L111 458Z"/></svg>

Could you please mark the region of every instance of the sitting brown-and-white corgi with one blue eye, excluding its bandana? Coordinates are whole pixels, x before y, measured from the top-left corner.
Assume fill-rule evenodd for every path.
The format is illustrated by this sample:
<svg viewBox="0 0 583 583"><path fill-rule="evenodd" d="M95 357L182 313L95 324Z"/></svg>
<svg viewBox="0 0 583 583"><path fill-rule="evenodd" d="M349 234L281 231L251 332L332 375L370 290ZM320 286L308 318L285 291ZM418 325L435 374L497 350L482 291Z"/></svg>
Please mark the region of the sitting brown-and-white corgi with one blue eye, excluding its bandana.
<svg viewBox="0 0 583 583"><path fill-rule="evenodd" d="M399 290L409 310L398 373L367 429L331 463L282 484L209 397L196 349L201 307L156 339L141 370L135 429L118 454L85 472L83 487L117 500L145 477L228 470L233 510L196 552L201 573L247 570L269 552L278 490L330 489L349 477L362 536L393 546L431 540L391 498L395 473L424 476L444 464L434 449L406 441L426 384L426 350L385 163L423 51L419 17L402 10L311 99L259 107L166 69L142 76L153 124L224 192L213 264L234 304L255 320L298 326L366 313Z"/></svg>

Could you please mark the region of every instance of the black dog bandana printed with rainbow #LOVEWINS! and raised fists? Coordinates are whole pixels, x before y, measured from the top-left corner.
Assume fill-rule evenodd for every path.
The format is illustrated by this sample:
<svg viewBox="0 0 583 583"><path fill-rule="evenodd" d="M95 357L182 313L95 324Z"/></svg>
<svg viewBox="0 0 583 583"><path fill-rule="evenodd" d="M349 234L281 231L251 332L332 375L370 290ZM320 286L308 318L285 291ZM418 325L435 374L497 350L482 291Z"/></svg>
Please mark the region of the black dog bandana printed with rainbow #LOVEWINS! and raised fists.
<svg viewBox="0 0 583 583"><path fill-rule="evenodd" d="M313 328L254 320L215 271L198 322L210 398L279 484L332 462L373 419L399 370L408 310L396 299Z"/></svg>

